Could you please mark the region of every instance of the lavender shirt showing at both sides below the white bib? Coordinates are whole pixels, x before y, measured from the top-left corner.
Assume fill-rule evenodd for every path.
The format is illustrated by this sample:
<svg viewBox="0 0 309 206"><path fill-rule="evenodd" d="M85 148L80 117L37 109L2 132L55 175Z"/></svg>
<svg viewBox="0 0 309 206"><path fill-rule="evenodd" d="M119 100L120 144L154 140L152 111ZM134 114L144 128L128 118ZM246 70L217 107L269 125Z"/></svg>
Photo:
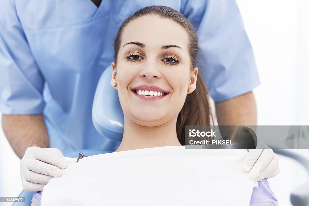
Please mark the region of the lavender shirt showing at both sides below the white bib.
<svg viewBox="0 0 309 206"><path fill-rule="evenodd" d="M257 182L259 187L254 187L251 195L250 206L277 206L278 200L271 190L267 179ZM32 202L37 206L41 206L42 191L32 193Z"/></svg>

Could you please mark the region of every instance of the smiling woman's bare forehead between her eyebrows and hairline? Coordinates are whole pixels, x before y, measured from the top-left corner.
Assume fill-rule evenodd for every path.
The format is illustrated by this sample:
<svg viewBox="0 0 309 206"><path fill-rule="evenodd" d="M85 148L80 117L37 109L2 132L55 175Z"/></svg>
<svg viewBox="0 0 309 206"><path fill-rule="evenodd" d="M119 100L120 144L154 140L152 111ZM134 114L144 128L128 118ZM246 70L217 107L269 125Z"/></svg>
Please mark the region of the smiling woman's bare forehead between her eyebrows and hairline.
<svg viewBox="0 0 309 206"><path fill-rule="evenodd" d="M121 47L128 42L141 42L145 47L177 45L188 49L188 34L185 29L171 19L147 15L128 23L121 35Z"/></svg>

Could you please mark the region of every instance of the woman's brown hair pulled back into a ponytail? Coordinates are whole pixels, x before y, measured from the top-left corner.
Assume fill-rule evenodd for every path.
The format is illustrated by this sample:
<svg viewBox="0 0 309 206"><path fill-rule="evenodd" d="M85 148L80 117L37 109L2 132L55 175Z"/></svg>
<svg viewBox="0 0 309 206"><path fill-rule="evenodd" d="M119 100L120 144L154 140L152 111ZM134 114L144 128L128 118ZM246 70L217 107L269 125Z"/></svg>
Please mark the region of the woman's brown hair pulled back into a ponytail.
<svg viewBox="0 0 309 206"><path fill-rule="evenodd" d="M189 36L189 54L191 58L190 69L196 67L197 64L197 53L199 50L198 40L195 29L192 23L184 17L179 11L176 11L167 6L147 6L138 11L133 15L129 16L120 26L115 43L114 43L114 58L117 63L117 56L119 47L121 44L121 34L125 26L134 19L138 19L146 15L155 15L165 19L171 19L174 22L182 26ZM197 88L192 93L188 94L184 102L178 117L176 124L177 137L181 145L185 144L184 141L184 126L185 125L211 125L214 122L212 111L209 103L209 95L206 89L205 83L201 78L200 73L197 75ZM212 122L210 122L212 120Z"/></svg>

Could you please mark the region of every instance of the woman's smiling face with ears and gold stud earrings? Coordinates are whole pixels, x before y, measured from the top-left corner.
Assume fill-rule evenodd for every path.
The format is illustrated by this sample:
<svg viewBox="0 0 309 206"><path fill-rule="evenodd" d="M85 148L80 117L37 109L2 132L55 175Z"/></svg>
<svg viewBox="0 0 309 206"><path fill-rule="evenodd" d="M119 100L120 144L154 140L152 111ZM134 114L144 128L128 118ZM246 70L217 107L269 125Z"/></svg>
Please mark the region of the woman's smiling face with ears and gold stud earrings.
<svg viewBox="0 0 309 206"><path fill-rule="evenodd" d="M124 28L111 84L125 119L146 127L177 120L198 69L190 70L188 34L170 19L148 15Z"/></svg>

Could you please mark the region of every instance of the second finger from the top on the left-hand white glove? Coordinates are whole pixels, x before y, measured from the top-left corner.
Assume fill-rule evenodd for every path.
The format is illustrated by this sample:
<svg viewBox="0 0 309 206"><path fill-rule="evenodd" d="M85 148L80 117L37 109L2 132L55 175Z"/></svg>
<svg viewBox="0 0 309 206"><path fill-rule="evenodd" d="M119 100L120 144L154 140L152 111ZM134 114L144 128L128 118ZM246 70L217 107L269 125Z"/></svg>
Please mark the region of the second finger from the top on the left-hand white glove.
<svg viewBox="0 0 309 206"><path fill-rule="evenodd" d="M36 159L29 160L26 163L26 168L33 172L46 174L53 177L59 177L62 174L61 170L58 167Z"/></svg>

